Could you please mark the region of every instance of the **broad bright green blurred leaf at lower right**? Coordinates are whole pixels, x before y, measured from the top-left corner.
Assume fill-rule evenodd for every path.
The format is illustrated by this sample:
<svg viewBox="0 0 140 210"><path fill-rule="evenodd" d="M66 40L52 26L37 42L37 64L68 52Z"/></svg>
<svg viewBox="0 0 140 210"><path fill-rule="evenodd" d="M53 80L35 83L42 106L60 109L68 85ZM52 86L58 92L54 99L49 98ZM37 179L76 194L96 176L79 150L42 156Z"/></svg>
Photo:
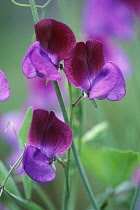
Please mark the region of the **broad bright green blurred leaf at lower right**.
<svg viewBox="0 0 140 210"><path fill-rule="evenodd" d="M89 171L105 186L115 187L127 180L140 163L140 154L104 147L99 151L83 146L81 158Z"/></svg>

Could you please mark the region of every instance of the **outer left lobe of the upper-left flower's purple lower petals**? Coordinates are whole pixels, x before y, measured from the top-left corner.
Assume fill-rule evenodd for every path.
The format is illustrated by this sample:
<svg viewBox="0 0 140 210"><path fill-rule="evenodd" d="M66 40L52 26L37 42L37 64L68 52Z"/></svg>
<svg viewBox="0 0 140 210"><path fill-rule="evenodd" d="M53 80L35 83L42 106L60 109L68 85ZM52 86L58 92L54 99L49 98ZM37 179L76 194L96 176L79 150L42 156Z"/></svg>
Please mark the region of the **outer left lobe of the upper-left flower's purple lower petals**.
<svg viewBox="0 0 140 210"><path fill-rule="evenodd" d="M27 50L22 60L22 72L28 79L32 79L37 76L36 69L32 64L30 58L31 53L36 46L38 46L38 43L37 42L33 43Z"/></svg>

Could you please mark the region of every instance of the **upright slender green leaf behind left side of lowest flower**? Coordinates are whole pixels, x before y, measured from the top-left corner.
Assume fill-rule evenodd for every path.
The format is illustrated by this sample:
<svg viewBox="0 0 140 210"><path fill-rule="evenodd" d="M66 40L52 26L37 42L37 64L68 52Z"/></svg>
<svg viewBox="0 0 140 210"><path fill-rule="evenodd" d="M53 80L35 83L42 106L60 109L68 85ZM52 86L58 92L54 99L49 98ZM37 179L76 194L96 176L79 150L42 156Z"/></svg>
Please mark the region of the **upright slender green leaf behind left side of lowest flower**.
<svg viewBox="0 0 140 210"><path fill-rule="evenodd" d="M27 144L27 136L28 136L28 131L30 128L31 120L32 120L32 107L29 107L26 111L22 126L19 130L18 134L18 139L20 142L20 145L24 148L25 144Z"/></svg>

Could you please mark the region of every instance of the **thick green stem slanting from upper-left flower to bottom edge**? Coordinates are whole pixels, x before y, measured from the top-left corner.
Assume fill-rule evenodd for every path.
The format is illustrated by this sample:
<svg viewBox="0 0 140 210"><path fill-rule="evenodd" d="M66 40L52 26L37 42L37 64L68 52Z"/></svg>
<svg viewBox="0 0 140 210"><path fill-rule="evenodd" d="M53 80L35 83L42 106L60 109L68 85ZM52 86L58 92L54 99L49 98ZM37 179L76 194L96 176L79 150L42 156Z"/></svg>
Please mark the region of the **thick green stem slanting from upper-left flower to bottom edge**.
<svg viewBox="0 0 140 210"><path fill-rule="evenodd" d="M53 84L54 84L54 88L55 88L55 91L56 91L56 95L58 97L58 101L59 101L59 104L60 104L60 108L61 108L64 120L67 124L69 124L67 112L66 112L66 109L65 109L65 105L64 105L64 102L63 102L63 98L62 98L58 83L56 81L54 81ZM92 204L92 206L95 210L99 210L99 207L98 207L96 199L93 195L92 189L91 189L90 184L88 182L86 173L84 171L83 165L82 165L81 160L79 158L79 155L78 155L78 152L77 152L77 149L76 149L76 146L75 146L74 142L72 143L72 151L73 151L73 154L74 154L74 157L75 157L75 160L76 160L76 163L77 163L77 167L78 167L80 176L82 178L84 187L85 187L85 189L87 191L87 194L90 198L91 204Z"/></svg>

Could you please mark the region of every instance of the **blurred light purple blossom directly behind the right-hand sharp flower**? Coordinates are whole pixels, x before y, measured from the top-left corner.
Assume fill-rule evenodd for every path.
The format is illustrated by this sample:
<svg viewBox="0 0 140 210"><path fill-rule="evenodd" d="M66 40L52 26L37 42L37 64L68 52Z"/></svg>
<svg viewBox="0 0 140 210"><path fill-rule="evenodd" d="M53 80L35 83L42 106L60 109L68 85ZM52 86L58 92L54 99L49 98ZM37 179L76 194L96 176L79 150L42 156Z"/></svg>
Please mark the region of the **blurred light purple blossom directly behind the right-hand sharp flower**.
<svg viewBox="0 0 140 210"><path fill-rule="evenodd" d="M131 75L131 62L121 46L113 43L107 36L94 35L88 37L88 39L96 39L103 43L105 61L117 63L125 77Z"/></svg>

